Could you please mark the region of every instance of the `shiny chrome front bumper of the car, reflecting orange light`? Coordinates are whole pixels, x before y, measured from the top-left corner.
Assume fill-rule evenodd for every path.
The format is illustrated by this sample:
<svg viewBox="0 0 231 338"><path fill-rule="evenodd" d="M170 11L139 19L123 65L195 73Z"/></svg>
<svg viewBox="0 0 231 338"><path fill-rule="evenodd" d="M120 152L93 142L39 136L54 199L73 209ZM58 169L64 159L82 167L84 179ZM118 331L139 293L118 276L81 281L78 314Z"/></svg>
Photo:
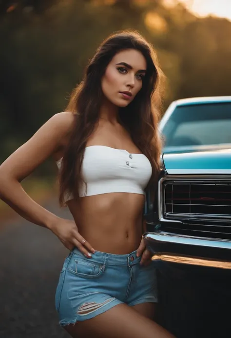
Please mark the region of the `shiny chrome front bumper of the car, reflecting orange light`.
<svg viewBox="0 0 231 338"><path fill-rule="evenodd" d="M166 232L143 235L153 260L231 269L231 241L187 237Z"/></svg>

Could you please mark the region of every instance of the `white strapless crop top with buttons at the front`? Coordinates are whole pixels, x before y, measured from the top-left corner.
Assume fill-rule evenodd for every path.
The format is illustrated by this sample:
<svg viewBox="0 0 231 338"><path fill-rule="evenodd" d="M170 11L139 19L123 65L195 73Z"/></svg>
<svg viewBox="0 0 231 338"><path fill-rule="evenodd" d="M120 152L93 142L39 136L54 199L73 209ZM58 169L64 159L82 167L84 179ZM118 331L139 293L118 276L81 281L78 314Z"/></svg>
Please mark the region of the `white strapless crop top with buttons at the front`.
<svg viewBox="0 0 231 338"><path fill-rule="evenodd" d="M58 168L61 161L62 159L57 161ZM152 166L143 154L91 145L85 148L81 172L87 183L87 191L83 183L79 191L80 197L120 192L144 195L144 189L152 175ZM69 199L73 199L72 195L66 194L65 201Z"/></svg>

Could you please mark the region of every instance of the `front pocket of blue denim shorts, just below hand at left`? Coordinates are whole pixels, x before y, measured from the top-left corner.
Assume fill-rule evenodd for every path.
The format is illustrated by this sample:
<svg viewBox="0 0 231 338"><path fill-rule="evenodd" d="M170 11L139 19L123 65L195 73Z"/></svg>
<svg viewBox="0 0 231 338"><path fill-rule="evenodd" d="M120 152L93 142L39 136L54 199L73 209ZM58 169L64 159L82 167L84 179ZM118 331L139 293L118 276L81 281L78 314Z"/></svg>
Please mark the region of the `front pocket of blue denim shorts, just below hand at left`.
<svg viewBox="0 0 231 338"><path fill-rule="evenodd" d="M84 278L97 278L105 270L104 264L90 262L81 257L72 257L68 268L71 273Z"/></svg>

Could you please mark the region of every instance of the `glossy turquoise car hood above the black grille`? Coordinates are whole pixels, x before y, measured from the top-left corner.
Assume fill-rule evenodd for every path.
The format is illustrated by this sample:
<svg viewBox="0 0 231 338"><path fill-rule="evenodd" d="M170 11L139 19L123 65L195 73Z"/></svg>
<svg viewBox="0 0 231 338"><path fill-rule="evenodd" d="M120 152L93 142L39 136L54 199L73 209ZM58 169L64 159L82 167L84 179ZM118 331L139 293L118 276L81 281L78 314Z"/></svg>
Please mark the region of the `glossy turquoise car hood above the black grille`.
<svg viewBox="0 0 231 338"><path fill-rule="evenodd" d="M163 153L168 174L231 174L231 145L207 149L173 150Z"/></svg>

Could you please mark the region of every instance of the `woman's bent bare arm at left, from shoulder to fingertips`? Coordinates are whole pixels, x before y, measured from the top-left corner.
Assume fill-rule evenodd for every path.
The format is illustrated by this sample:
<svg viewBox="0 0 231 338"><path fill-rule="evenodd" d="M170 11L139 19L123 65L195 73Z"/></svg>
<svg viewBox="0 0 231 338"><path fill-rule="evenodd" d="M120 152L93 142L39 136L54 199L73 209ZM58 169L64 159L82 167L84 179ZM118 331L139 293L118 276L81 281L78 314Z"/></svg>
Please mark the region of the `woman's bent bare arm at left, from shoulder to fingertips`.
<svg viewBox="0 0 231 338"><path fill-rule="evenodd" d="M76 245L87 255L89 250L94 252L94 249L78 233L74 221L61 219L44 209L26 194L20 184L22 179L61 147L73 122L74 116L71 113L54 115L0 165L0 199L23 218L50 229L68 249ZM84 243L87 250L81 243Z"/></svg>

